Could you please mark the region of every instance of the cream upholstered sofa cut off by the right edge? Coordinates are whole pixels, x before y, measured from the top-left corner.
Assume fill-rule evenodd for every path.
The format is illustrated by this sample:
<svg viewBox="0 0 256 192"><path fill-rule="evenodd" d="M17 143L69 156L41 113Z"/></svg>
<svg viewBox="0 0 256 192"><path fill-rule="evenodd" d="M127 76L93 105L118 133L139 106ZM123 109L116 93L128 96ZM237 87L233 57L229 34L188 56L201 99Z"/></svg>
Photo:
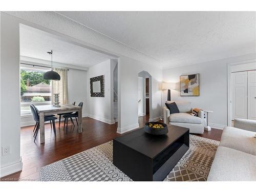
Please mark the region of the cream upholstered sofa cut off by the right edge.
<svg viewBox="0 0 256 192"><path fill-rule="evenodd" d="M225 127L207 181L256 181L256 121Z"/></svg>

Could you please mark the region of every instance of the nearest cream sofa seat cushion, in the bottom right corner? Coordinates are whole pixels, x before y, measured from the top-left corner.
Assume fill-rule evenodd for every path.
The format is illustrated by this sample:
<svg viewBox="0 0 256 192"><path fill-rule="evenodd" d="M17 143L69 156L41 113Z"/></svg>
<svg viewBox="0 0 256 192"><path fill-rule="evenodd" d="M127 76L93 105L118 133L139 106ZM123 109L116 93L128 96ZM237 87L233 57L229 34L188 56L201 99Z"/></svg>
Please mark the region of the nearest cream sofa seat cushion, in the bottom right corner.
<svg viewBox="0 0 256 192"><path fill-rule="evenodd" d="M207 181L256 181L256 156L219 146Z"/></svg>

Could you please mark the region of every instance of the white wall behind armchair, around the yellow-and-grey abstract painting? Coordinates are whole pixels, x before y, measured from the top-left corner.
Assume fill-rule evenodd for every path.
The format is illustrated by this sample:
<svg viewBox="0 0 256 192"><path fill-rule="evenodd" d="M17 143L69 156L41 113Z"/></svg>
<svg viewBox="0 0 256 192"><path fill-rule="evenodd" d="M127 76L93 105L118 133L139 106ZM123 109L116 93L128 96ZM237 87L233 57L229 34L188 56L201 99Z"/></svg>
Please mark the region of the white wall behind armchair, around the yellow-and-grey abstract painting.
<svg viewBox="0 0 256 192"><path fill-rule="evenodd" d="M163 70L163 81L176 82L177 91L171 93L171 100L190 101L192 107L214 111L209 114L209 124L222 129L227 125L227 63L255 58L255 54L208 61L191 66ZM200 96L180 97L180 75L200 74ZM167 100L167 91L163 93L163 104Z"/></svg>

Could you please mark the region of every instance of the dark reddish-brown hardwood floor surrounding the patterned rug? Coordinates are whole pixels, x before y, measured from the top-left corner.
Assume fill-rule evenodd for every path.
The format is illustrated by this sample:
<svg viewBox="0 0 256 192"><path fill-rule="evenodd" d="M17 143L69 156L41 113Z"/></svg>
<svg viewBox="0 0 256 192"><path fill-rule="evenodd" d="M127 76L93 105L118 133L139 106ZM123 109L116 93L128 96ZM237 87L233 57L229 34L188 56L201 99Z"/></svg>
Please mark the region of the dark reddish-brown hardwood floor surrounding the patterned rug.
<svg viewBox="0 0 256 192"><path fill-rule="evenodd" d="M140 127L147 121L148 116L140 117ZM82 125L84 131L78 134L77 126L74 127L69 123L68 129L63 131L63 123L61 123L60 130L57 128L55 138L50 124L46 124L46 139L44 144L39 143L39 137L35 143L33 142L34 126L22 127L20 132L20 155L23 160L23 170L1 178L1 180L39 180L40 167L111 141L116 136L119 136L116 133L117 123L110 125L89 117L84 117L82 118ZM220 140L221 134L222 130L212 129L210 132L205 131L202 135L195 135Z"/></svg>

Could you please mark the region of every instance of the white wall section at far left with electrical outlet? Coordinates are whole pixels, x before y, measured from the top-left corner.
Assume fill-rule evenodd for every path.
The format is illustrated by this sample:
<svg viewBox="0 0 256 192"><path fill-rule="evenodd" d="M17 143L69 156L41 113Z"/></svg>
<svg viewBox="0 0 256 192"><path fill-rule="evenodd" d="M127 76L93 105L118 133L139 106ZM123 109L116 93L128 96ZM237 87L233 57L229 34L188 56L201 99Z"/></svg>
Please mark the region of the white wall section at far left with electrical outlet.
<svg viewBox="0 0 256 192"><path fill-rule="evenodd" d="M20 157L19 110L19 26L14 17L1 14L0 62L0 177L22 169ZM3 156L2 148L10 147L11 153Z"/></svg>

